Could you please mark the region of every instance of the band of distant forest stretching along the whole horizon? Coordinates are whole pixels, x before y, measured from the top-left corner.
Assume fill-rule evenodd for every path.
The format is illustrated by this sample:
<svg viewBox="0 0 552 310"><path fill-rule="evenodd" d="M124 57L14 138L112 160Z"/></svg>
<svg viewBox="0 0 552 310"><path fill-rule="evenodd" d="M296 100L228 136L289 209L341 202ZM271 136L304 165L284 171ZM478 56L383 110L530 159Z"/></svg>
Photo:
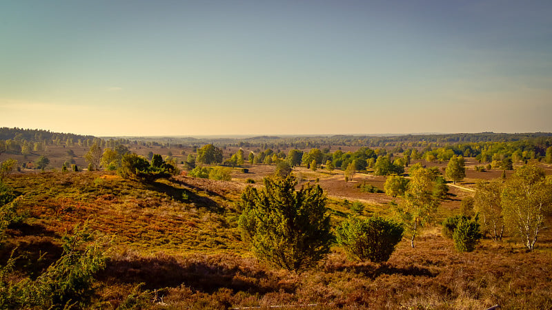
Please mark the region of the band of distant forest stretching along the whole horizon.
<svg viewBox="0 0 552 310"><path fill-rule="evenodd" d="M526 160L552 161L552 133L504 134L481 132L475 134L408 134L402 136L255 136L251 138L175 138L175 137L95 137L78 134L50 132L48 130L24 130L20 128L0 128L0 154L30 154L41 152L48 145L79 145L90 147L97 143L100 147L117 145L160 146L194 149L213 144L222 149L240 147L253 149L255 153L264 150L280 149L320 149L331 155L341 147L380 149L378 154L406 153L413 159L426 161L448 161L451 156L475 157L481 162L517 162ZM360 151L364 152L364 151ZM334 158L335 159L335 158ZM261 161L262 163L262 161ZM339 167L339 164L336 165Z"/></svg>

